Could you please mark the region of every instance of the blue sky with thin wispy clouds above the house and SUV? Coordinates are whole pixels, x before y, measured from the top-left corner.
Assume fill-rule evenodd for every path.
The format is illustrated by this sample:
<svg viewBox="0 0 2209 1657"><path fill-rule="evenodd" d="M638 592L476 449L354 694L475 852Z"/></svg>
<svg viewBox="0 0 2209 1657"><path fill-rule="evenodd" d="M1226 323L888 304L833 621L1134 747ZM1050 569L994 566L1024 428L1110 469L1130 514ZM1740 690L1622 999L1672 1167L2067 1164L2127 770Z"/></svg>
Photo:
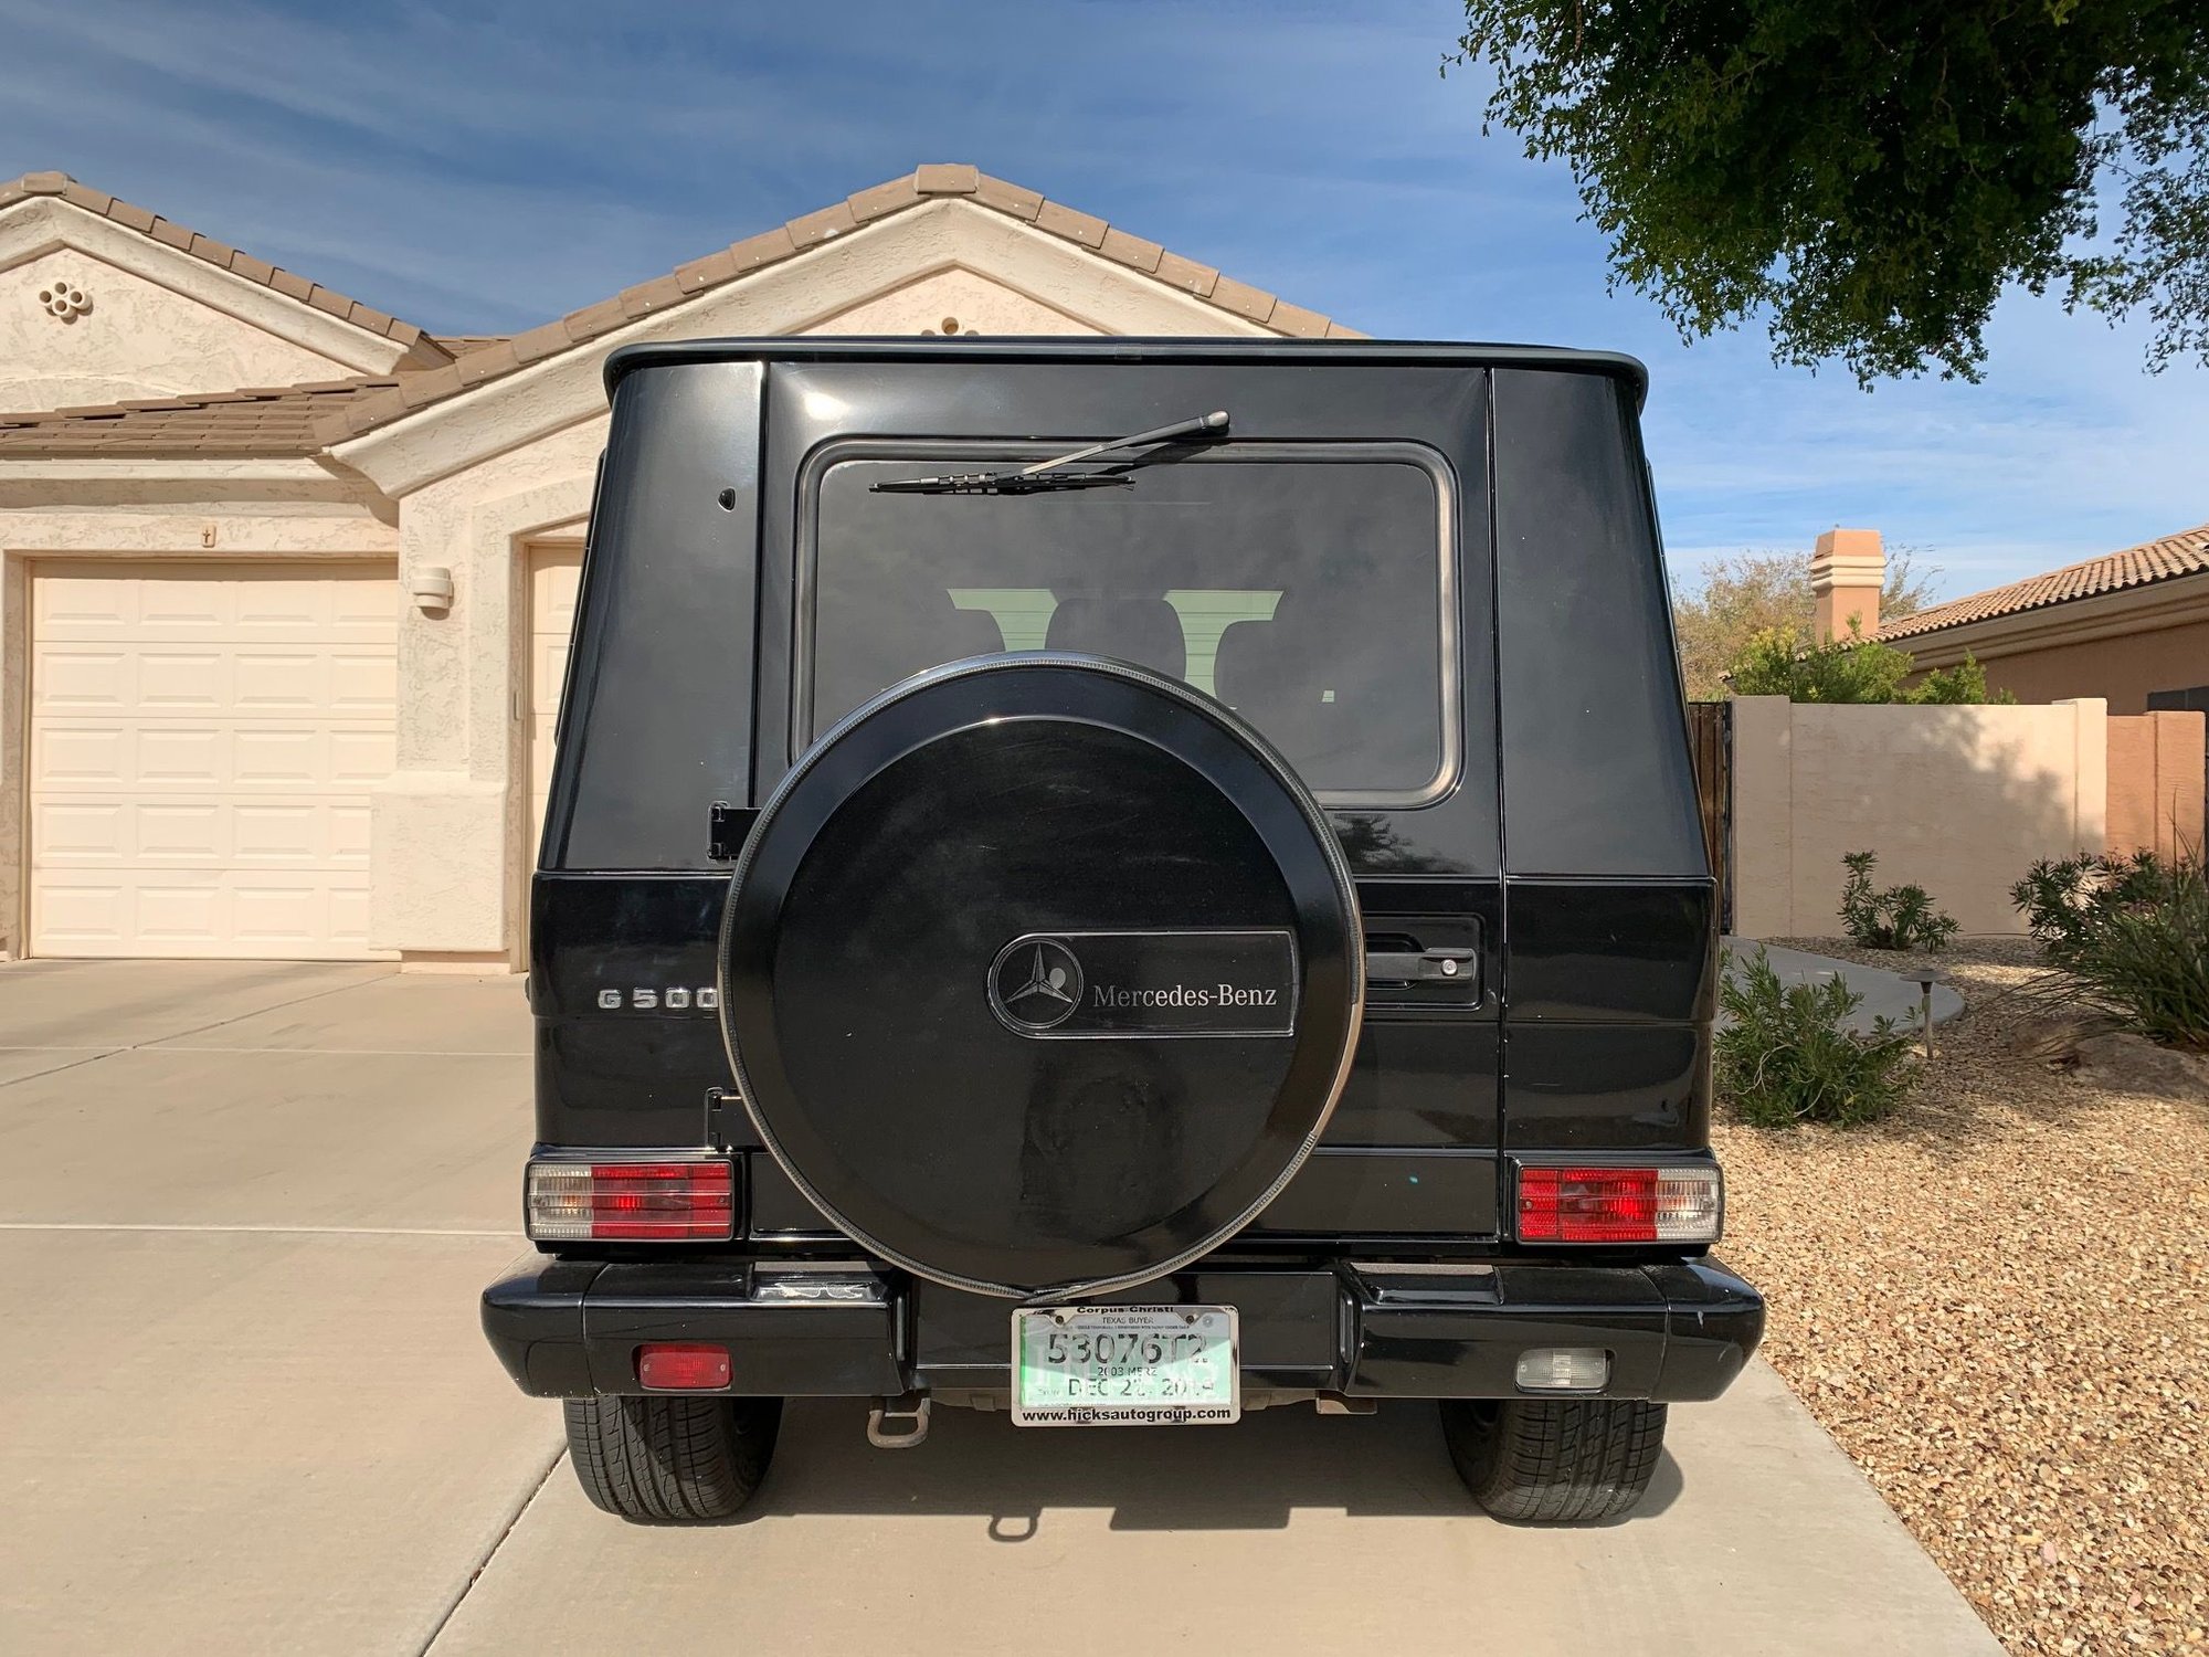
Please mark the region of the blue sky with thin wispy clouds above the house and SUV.
<svg viewBox="0 0 2209 1657"><path fill-rule="evenodd" d="M431 329L504 331L974 161L1370 334L1626 349L1679 579L1873 526L1944 594L2209 519L2209 371L2004 300L1984 384L1778 369L1606 292L1571 175L1436 73L1447 0L0 0L0 177L60 168Z"/></svg>

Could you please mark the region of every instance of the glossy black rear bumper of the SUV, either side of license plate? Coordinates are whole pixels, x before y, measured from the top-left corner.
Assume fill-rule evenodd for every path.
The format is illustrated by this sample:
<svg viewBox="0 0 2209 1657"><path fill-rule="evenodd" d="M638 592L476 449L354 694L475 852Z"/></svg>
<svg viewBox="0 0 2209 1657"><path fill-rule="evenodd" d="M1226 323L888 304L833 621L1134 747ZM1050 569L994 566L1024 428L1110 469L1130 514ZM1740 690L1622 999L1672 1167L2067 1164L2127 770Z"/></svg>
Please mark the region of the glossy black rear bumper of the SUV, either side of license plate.
<svg viewBox="0 0 2209 1657"><path fill-rule="evenodd" d="M846 1284L846 1292L850 1292ZM866 1299L791 1299L751 1262L530 1257L484 1290L484 1334L528 1394L636 1394L645 1341L711 1341L731 1394L987 1396L1007 1387L1010 1301L901 1275ZM1608 1399L1716 1399L1756 1350L1763 1297L1714 1259L1493 1262L1487 1270L1206 1264L1113 1299L1239 1308L1246 1392L1509 1399L1520 1352L1610 1352Z"/></svg>

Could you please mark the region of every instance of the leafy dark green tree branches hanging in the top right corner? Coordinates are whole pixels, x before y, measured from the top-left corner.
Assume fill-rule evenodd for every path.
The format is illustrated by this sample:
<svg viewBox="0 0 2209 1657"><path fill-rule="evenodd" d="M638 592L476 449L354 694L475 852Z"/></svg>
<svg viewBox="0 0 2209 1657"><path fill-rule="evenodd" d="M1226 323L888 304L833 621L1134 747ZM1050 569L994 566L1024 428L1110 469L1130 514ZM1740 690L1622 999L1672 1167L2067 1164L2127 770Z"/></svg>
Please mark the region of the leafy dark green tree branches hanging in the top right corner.
<svg viewBox="0 0 2209 1657"><path fill-rule="evenodd" d="M1571 163L1683 336L1979 378L2004 287L2209 362L2202 0L1465 0L1489 126ZM2114 234L2101 236L2101 210Z"/></svg>

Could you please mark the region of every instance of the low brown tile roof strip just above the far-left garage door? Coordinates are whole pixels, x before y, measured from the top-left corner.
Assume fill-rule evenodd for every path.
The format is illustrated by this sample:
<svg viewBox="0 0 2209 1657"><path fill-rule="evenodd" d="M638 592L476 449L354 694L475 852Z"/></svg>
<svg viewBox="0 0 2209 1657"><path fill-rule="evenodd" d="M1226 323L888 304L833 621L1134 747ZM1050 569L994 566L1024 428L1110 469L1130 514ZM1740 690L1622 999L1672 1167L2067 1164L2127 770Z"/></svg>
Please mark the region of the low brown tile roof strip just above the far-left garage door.
<svg viewBox="0 0 2209 1657"><path fill-rule="evenodd" d="M0 415L0 460L316 455L323 448L316 424L331 409L393 391L398 384L400 380L391 376L364 376Z"/></svg>

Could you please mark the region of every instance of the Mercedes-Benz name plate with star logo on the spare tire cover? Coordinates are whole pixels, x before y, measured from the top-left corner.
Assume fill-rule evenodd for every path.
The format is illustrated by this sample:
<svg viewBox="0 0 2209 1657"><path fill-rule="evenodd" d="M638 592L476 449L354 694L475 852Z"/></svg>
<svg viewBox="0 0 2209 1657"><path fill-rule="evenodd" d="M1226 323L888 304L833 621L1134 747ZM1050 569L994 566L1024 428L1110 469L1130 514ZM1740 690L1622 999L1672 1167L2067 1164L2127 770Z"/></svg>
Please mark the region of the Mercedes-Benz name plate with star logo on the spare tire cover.
<svg viewBox="0 0 2209 1657"><path fill-rule="evenodd" d="M1290 1036L1297 937L1027 932L990 963L990 1012L1016 1036Z"/></svg>

